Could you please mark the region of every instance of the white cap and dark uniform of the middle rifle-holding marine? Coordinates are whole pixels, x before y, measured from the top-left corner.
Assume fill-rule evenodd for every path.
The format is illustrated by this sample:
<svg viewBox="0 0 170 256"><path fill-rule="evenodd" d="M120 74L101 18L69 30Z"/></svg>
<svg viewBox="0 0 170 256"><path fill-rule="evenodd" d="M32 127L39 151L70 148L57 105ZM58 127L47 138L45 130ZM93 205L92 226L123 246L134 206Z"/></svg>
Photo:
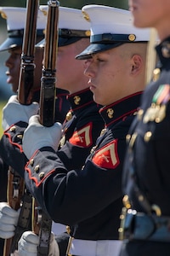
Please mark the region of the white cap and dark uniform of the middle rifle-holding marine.
<svg viewBox="0 0 170 256"><path fill-rule="evenodd" d="M44 9L45 7L43 11ZM75 13L75 10L71 12L70 9L59 8L59 47L74 44L81 38L89 38L89 24L85 20L82 19L82 22L73 23L74 20L82 17L82 12L80 10L76 11ZM70 18L68 15L72 17L69 26L68 20ZM42 47L43 42L40 42L38 46ZM100 131L104 128L104 120L99 114L99 108L101 106L94 102L93 93L89 90L88 86L86 87L86 89L68 96L71 110L66 116L63 126L63 136L59 143L60 149L57 152L59 160L62 161L68 171L82 168L97 137L99 137ZM20 122L19 124L12 125L8 131L5 131L1 149L2 154L4 153L4 160L10 166L13 166L15 170L20 170L19 172L22 177L24 166L26 165L26 158L23 154L21 143L26 126L26 123ZM5 148L8 149L6 150ZM10 159L5 154L10 154ZM68 237L68 234L66 237ZM59 242L60 255L65 255L65 244L61 245L61 241L65 243L65 237L62 239L62 237L60 238L58 236L57 241Z"/></svg>

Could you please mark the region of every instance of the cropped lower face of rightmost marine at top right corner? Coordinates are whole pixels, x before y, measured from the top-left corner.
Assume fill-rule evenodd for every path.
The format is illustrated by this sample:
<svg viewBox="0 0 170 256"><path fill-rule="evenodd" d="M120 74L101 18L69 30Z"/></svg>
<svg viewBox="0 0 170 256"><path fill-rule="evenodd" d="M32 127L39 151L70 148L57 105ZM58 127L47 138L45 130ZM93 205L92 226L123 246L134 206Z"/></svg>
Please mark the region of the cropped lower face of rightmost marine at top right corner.
<svg viewBox="0 0 170 256"><path fill-rule="evenodd" d="M161 38L167 37L170 22L169 0L128 0L133 24L138 27L155 27Z"/></svg>

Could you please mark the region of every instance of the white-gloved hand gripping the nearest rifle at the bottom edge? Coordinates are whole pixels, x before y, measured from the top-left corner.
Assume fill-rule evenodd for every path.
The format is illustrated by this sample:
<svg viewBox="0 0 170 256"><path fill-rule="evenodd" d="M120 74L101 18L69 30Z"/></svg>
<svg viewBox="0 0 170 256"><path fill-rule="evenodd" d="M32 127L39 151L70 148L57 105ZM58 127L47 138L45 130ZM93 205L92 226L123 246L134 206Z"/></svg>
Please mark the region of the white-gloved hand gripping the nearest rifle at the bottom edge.
<svg viewBox="0 0 170 256"><path fill-rule="evenodd" d="M39 237L35 233L31 231L24 232L18 242L18 255L37 256L38 241ZM47 256L59 256L59 246L57 241L54 239L53 233L51 233L49 253Z"/></svg>

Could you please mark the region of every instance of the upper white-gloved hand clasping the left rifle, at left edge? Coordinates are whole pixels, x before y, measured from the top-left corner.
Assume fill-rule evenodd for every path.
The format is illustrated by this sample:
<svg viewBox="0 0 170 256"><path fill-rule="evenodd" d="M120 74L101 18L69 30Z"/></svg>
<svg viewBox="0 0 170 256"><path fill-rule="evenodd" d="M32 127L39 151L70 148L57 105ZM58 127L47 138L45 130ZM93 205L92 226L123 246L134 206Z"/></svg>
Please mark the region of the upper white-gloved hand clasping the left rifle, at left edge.
<svg viewBox="0 0 170 256"><path fill-rule="evenodd" d="M7 130L10 125L19 121L28 123L30 117L37 114L39 104L32 102L31 105L22 105L17 96L11 96L3 108L3 130Z"/></svg>

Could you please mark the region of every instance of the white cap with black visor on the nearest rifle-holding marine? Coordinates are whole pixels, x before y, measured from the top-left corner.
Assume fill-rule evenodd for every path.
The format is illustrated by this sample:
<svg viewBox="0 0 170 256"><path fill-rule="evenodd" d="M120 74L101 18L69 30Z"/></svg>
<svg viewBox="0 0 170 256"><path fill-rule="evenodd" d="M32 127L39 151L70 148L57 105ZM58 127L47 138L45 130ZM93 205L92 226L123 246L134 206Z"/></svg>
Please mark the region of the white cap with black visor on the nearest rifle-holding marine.
<svg viewBox="0 0 170 256"><path fill-rule="evenodd" d="M130 11L104 5L89 4L82 7L84 19L90 24L90 46L77 59L111 49L125 43L148 42L150 29L133 26Z"/></svg>

